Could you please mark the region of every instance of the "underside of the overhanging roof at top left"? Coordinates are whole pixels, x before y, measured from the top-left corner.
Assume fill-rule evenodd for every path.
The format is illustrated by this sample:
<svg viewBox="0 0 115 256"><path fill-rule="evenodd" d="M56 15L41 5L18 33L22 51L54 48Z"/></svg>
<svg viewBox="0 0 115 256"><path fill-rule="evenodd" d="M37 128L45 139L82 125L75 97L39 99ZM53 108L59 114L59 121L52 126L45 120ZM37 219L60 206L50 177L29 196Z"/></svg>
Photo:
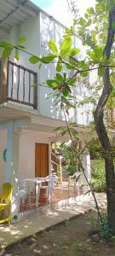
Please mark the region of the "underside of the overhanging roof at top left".
<svg viewBox="0 0 115 256"><path fill-rule="evenodd" d="M0 0L0 40L14 25L37 15L37 6L29 0Z"/></svg>

